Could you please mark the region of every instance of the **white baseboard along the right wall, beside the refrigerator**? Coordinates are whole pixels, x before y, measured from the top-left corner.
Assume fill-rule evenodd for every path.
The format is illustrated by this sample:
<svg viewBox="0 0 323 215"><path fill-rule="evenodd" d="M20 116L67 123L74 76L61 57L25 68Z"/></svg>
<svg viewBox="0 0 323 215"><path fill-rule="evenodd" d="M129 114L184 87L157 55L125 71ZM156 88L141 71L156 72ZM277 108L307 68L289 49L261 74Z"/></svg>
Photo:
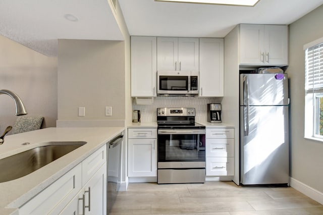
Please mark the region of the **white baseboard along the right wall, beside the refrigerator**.
<svg viewBox="0 0 323 215"><path fill-rule="evenodd" d="M293 187L295 190L298 190L299 192L303 193L304 195L307 195L311 199L314 199L320 204L323 204L323 193L319 192L318 190L315 190L314 188L296 180L293 178L290 178L290 186Z"/></svg>

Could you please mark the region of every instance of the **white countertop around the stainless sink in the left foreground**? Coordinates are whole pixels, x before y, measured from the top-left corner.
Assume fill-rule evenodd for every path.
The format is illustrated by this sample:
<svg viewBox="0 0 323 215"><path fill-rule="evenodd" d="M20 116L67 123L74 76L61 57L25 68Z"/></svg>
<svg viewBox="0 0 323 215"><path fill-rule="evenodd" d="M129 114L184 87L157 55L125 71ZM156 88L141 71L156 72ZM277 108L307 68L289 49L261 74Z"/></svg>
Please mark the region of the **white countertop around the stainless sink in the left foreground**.
<svg viewBox="0 0 323 215"><path fill-rule="evenodd" d="M0 214L18 214L18 207L123 130L125 130L124 127L46 128L6 136L4 144L0 145L0 158L45 145L45 142L85 141L87 143L27 176L0 183ZM24 142L30 144L21 145Z"/></svg>

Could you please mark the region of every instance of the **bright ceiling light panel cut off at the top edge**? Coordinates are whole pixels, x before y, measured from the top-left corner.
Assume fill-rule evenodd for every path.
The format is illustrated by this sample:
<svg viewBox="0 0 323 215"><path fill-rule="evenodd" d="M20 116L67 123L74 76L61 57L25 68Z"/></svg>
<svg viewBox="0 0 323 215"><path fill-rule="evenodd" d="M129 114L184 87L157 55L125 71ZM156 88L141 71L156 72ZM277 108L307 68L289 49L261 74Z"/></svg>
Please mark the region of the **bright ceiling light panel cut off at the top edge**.
<svg viewBox="0 0 323 215"><path fill-rule="evenodd" d="M155 0L158 2L181 2L217 5L254 6L259 0Z"/></svg>

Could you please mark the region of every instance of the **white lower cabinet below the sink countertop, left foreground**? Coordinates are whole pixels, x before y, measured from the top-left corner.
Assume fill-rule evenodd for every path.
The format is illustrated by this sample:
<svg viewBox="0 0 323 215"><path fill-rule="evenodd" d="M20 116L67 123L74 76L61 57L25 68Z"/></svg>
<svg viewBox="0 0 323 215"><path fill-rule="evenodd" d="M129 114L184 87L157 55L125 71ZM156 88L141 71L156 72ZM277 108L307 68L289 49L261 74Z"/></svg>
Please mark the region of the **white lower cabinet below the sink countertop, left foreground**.
<svg viewBox="0 0 323 215"><path fill-rule="evenodd" d="M106 214L106 145L21 206L19 214Z"/></svg>

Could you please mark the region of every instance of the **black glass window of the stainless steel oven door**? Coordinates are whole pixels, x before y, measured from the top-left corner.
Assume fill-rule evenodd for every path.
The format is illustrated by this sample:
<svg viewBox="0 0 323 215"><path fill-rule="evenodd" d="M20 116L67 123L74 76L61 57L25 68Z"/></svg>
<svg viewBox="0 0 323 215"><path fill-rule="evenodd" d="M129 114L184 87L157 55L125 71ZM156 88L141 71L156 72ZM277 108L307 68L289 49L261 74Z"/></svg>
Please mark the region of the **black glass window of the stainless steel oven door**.
<svg viewBox="0 0 323 215"><path fill-rule="evenodd" d="M158 162L204 161L200 146L200 134L159 134Z"/></svg>

